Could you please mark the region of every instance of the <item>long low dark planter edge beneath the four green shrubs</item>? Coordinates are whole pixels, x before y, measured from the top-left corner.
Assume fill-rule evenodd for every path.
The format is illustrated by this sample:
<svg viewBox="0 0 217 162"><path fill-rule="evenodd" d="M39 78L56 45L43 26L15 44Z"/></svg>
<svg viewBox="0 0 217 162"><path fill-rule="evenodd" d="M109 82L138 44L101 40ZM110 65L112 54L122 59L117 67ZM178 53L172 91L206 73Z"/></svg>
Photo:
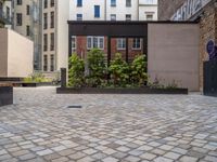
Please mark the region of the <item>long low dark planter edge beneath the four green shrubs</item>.
<svg viewBox="0 0 217 162"><path fill-rule="evenodd" d="M188 94L188 89L98 89L56 87L58 94Z"/></svg>

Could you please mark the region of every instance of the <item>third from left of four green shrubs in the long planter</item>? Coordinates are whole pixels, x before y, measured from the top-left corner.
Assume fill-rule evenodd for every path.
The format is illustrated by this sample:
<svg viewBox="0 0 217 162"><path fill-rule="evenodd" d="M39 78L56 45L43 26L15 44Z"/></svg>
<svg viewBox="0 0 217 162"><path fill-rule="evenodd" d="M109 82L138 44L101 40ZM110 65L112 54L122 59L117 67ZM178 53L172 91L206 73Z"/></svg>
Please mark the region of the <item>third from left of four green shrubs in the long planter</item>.
<svg viewBox="0 0 217 162"><path fill-rule="evenodd" d="M126 86L129 82L129 65L123 59L122 54L115 54L115 58L108 67L112 83L115 86Z"/></svg>

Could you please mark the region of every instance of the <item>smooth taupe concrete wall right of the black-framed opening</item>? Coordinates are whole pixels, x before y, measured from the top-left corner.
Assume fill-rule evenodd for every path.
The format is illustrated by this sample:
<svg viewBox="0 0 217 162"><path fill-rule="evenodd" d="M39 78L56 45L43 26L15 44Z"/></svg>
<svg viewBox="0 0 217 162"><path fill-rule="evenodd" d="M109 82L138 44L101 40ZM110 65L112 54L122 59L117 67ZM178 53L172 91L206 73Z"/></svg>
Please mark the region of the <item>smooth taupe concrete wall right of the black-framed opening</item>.
<svg viewBox="0 0 217 162"><path fill-rule="evenodd" d="M199 91L199 25L149 24L148 70L151 80Z"/></svg>

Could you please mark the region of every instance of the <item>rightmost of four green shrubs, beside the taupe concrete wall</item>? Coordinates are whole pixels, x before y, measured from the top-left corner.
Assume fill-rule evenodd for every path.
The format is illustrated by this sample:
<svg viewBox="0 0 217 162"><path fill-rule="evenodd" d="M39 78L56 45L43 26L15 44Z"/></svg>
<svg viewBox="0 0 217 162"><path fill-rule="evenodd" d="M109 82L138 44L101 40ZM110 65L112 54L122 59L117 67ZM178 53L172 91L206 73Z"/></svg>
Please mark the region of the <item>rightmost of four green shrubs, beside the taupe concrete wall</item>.
<svg viewBox="0 0 217 162"><path fill-rule="evenodd" d="M131 64L131 82L142 86L148 81L145 55L137 55Z"/></svg>

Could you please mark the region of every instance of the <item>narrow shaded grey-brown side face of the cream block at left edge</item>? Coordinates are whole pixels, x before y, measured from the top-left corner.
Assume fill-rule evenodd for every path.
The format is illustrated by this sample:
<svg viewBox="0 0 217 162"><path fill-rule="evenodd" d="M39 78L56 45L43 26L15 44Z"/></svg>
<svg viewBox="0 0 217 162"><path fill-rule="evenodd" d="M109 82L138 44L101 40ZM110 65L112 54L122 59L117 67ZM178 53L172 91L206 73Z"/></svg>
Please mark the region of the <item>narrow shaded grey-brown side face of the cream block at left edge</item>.
<svg viewBox="0 0 217 162"><path fill-rule="evenodd" d="M0 77L8 73L8 32L0 28Z"/></svg>

